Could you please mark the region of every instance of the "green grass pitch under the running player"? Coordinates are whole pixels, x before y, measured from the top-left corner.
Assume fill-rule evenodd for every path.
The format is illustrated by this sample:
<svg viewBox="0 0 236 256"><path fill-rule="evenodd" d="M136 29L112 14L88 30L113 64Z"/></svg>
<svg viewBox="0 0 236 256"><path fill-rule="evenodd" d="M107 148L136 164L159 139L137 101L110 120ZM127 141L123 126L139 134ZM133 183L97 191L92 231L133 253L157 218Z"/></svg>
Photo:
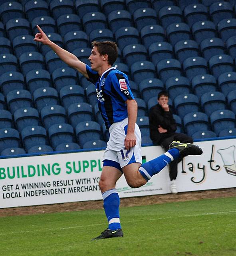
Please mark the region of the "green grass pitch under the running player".
<svg viewBox="0 0 236 256"><path fill-rule="evenodd" d="M236 198L121 208L123 238L90 241L103 210L0 218L1 256L236 256Z"/></svg>

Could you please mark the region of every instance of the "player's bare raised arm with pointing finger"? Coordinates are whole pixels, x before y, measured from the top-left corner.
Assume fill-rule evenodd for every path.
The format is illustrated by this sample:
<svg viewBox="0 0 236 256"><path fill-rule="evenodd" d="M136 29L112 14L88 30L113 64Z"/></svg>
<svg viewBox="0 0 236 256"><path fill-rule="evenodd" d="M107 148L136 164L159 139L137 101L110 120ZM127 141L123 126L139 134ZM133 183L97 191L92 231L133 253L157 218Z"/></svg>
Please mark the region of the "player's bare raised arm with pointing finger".
<svg viewBox="0 0 236 256"><path fill-rule="evenodd" d="M44 31L37 25L39 32L35 35L34 41L40 42L42 44L48 45L56 54L59 56L61 60L63 60L66 64L71 66L72 68L77 69L81 74L88 78L86 72L85 63L81 62L74 54L68 52L67 50L62 49L57 44L54 44L44 33Z"/></svg>

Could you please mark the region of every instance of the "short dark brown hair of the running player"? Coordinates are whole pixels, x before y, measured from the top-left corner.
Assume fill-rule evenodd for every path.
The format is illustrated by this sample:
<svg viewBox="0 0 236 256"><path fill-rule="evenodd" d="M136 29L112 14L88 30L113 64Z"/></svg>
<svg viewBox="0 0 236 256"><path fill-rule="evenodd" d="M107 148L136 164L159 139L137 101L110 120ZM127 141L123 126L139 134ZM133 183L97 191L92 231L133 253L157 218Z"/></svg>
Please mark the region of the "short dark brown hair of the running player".
<svg viewBox="0 0 236 256"><path fill-rule="evenodd" d="M100 55L105 55L105 54L108 55L108 64L112 66L118 57L117 44L111 41L103 41L103 42L93 41L91 44L92 46L97 47L97 51L99 52Z"/></svg>

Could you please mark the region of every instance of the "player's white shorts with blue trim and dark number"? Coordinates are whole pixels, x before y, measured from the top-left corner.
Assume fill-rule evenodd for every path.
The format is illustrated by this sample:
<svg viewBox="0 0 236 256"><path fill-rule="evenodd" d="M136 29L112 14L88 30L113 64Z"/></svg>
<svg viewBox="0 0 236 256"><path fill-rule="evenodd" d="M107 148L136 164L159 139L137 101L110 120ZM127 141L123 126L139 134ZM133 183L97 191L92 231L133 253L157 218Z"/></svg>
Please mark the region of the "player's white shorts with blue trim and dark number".
<svg viewBox="0 0 236 256"><path fill-rule="evenodd" d="M110 138L103 155L104 160L111 160L119 163L123 168L131 163L142 163L141 154L141 132L135 124L136 145L130 150L125 149L125 136L128 127L128 118L111 125L109 128Z"/></svg>

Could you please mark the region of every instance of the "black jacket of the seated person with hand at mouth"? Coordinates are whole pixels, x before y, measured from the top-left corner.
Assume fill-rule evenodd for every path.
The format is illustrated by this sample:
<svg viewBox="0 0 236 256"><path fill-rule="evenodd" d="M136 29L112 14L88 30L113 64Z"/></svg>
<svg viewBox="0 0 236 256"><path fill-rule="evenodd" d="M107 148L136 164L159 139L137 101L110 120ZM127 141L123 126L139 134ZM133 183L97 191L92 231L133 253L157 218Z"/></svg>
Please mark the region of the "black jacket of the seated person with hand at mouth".
<svg viewBox="0 0 236 256"><path fill-rule="evenodd" d="M161 126L167 129L165 133L159 133L158 128ZM157 104L153 106L149 111L149 129L150 138L153 144L160 145L165 138L168 138L175 134L176 122L173 118L172 111L164 111L163 108Z"/></svg>

